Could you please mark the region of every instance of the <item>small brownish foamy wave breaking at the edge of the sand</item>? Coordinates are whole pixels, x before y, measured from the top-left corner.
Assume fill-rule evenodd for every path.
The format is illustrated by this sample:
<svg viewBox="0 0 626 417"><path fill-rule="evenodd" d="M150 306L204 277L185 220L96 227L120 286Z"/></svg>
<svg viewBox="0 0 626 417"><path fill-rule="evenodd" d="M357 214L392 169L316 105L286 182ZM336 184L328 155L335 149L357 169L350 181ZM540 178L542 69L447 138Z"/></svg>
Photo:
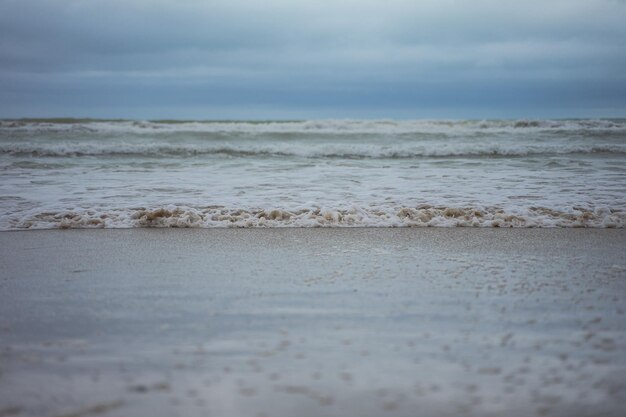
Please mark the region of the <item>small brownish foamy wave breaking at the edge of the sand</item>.
<svg viewBox="0 0 626 417"><path fill-rule="evenodd" d="M145 228L145 227L592 227L624 228L626 211L572 207L530 207L506 211L498 207L310 207L228 208L166 206L117 210L42 212L11 218L5 229Z"/></svg>

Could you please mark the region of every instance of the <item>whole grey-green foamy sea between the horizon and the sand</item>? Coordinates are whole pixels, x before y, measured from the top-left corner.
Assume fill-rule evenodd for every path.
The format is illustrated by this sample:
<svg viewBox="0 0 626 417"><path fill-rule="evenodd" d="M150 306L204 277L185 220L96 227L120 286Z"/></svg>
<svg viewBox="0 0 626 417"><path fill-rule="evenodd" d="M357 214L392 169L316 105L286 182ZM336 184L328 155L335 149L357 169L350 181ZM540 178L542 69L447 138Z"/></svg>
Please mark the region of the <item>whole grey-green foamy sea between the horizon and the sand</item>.
<svg viewBox="0 0 626 417"><path fill-rule="evenodd" d="M626 120L0 122L0 229L619 227Z"/></svg>

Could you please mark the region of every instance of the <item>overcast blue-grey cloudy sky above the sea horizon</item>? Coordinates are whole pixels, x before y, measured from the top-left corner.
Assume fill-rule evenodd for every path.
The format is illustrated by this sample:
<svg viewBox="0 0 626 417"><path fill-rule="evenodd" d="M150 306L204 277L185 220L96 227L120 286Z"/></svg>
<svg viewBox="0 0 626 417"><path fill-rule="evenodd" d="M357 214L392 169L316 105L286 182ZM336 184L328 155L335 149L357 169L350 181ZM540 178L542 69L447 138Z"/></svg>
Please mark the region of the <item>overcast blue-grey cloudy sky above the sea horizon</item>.
<svg viewBox="0 0 626 417"><path fill-rule="evenodd" d="M0 0L0 118L626 117L626 0Z"/></svg>

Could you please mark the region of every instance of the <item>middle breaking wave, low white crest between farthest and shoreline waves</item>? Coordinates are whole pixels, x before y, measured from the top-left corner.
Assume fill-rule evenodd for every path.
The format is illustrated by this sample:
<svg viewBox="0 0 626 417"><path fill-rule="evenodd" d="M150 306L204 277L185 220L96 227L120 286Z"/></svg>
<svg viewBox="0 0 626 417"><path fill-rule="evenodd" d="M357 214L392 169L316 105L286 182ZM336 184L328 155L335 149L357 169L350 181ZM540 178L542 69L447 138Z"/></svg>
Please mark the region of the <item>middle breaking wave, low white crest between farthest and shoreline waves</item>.
<svg viewBox="0 0 626 417"><path fill-rule="evenodd" d="M132 143L62 142L0 143L0 154L16 157L299 157L345 159L410 159L420 157L516 157L568 154L626 155L623 144L582 143Z"/></svg>

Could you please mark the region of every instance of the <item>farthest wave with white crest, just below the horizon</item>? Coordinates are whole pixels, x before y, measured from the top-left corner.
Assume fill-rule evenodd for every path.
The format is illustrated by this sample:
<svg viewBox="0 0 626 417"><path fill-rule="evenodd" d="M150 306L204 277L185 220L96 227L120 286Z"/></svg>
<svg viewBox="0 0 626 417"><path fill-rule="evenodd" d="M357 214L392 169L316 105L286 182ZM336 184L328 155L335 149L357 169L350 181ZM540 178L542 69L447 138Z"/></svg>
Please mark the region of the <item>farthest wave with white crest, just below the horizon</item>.
<svg viewBox="0 0 626 417"><path fill-rule="evenodd" d="M0 120L0 131L138 133L467 133L515 131L626 132L626 119L568 120L308 120L308 121L132 121L97 119Z"/></svg>

